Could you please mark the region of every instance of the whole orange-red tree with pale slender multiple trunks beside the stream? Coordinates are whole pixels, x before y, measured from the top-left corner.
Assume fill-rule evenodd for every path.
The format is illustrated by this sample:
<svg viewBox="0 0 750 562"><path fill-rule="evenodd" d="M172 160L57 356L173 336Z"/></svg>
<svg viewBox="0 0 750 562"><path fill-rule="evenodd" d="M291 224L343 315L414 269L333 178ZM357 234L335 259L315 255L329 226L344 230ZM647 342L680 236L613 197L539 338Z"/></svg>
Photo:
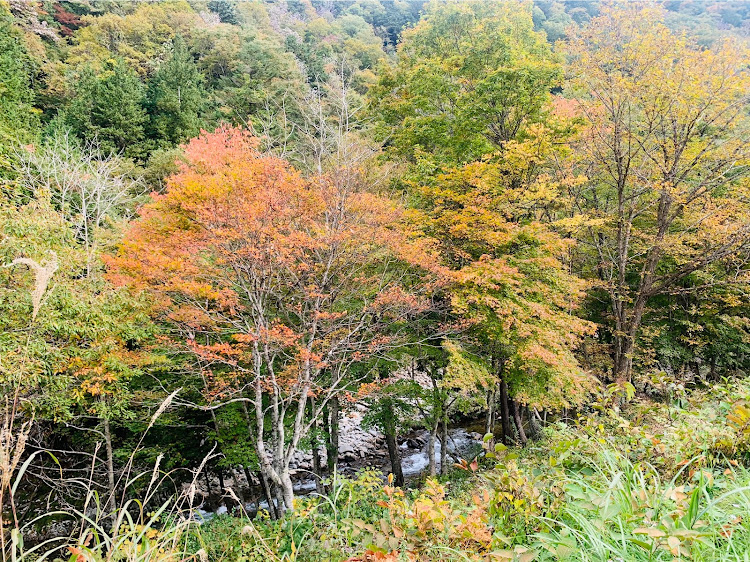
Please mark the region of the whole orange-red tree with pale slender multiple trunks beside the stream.
<svg viewBox="0 0 750 562"><path fill-rule="evenodd" d="M208 407L249 406L260 470L291 509L300 439L352 382L349 367L397 345L424 305L396 205L356 181L306 179L256 147L237 128L193 139L110 266L158 297L210 381Z"/></svg>

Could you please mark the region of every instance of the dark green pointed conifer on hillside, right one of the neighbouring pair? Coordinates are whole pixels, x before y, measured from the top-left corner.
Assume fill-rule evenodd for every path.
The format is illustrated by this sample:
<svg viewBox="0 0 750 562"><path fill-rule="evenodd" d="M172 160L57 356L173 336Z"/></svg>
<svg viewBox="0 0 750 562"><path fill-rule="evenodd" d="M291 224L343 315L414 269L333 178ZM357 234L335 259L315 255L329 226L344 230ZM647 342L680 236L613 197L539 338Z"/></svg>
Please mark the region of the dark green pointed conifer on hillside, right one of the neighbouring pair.
<svg viewBox="0 0 750 562"><path fill-rule="evenodd" d="M201 128L204 100L203 76L185 41L177 36L172 56L149 84L150 136L170 144L196 136Z"/></svg>

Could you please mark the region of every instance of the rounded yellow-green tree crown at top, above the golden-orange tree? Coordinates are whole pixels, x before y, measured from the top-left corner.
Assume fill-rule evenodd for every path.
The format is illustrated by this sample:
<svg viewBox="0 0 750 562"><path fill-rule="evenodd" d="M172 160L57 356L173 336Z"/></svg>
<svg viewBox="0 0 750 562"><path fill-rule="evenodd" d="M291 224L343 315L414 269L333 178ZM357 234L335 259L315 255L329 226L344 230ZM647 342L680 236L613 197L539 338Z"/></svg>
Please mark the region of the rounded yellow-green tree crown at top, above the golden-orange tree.
<svg viewBox="0 0 750 562"><path fill-rule="evenodd" d="M433 2L371 90L381 134L410 159L480 158L542 118L561 67L530 4Z"/></svg>

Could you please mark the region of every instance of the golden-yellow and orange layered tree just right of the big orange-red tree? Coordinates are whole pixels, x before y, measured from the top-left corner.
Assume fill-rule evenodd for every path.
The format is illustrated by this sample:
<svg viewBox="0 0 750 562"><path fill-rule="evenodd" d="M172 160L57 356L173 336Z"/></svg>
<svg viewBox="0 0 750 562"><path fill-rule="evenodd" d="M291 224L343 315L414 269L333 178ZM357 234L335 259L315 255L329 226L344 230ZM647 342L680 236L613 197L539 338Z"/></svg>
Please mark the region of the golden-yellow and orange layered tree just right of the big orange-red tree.
<svg viewBox="0 0 750 562"><path fill-rule="evenodd" d="M576 181L549 174L561 150L556 138L537 125L493 160L412 187L420 198L415 220L450 270L448 298L467 322L469 350L487 358L495 376L504 435L511 434L509 400L561 409L583 403L593 389L573 353L593 331L574 313L585 284L569 270L572 240L549 224L561 204L556 194Z"/></svg>

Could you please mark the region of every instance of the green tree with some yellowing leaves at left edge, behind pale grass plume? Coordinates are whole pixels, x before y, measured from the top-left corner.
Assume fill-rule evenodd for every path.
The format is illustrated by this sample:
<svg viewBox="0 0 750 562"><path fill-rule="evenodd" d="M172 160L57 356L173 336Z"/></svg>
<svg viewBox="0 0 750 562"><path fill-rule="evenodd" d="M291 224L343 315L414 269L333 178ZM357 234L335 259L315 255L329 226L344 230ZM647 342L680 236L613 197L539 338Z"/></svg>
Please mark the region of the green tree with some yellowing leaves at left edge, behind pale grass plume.
<svg viewBox="0 0 750 562"><path fill-rule="evenodd" d="M94 471L107 509L118 475L112 426L137 417L131 381L148 362L141 347L151 324L142 300L91 274L101 262L38 187L30 201L3 198L0 205L0 392L16 397L17 415L59 424L56 435L70 424L79 443L104 446L103 462L92 465L87 456L85 470ZM79 452L58 462L75 470ZM59 505L86 493L75 481L57 487L60 466L33 468Z"/></svg>

